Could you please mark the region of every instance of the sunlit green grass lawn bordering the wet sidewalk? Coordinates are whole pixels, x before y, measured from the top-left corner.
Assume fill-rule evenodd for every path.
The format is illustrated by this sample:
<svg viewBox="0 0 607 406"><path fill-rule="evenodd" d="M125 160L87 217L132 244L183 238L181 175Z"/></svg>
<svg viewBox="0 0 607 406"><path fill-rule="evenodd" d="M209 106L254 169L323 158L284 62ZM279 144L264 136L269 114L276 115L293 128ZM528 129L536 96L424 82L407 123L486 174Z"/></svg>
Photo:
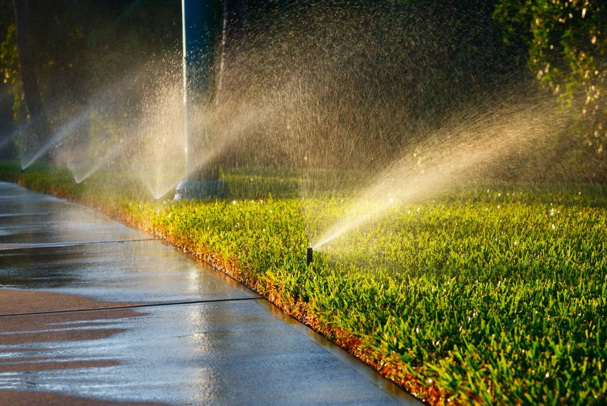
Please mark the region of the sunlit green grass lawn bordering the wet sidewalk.
<svg viewBox="0 0 607 406"><path fill-rule="evenodd" d="M22 183L64 183L81 200L104 190L117 211L236 260L260 293L304 303L322 325L361 338L404 368L393 371L397 380L410 374L459 401L607 401L605 186L468 186L398 206L306 266L309 236L341 217L348 197L289 198L293 177L285 187L285 176L232 172L232 186L249 182L239 197L263 198L156 202L93 180L74 191L58 176L37 172Z"/></svg>

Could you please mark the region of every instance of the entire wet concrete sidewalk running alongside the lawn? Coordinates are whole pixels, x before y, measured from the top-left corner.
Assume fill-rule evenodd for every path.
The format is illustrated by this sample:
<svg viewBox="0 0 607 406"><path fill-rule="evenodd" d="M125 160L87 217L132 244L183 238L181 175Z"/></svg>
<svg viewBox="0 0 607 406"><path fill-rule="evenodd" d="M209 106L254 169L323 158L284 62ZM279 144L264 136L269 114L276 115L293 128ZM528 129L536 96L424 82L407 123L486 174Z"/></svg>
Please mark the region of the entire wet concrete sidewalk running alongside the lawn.
<svg viewBox="0 0 607 406"><path fill-rule="evenodd" d="M19 391L90 402L418 404L222 274L10 183L0 183L0 287L28 289L0 295L0 404Z"/></svg>

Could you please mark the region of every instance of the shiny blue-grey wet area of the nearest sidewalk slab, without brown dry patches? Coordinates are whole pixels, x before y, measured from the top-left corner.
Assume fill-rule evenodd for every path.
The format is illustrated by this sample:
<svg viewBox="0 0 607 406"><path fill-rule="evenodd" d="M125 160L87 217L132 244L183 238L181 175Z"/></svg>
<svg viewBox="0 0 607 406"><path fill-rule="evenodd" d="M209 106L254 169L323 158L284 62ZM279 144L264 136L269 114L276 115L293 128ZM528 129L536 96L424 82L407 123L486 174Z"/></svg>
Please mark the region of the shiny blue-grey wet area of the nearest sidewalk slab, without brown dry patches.
<svg viewBox="0 0 607 406"><path fill-rule="evenodd" d="M146 308L146 313L111 323L103 319L106 314L90 316L95 320L83 329L112 333L95 340L55 342L44 353L36 351L40 343L0 345L12 351L10 357L61 357L61 362L72 363L120 360L119 365L79 368L77 373L31 369L27 376L0 365L0 388L31 390L35 385L35 390L65 393L78 388L80 396L118 401L141 401L146 393L146 401L172 404L394 401L254 300Z"/></svg>

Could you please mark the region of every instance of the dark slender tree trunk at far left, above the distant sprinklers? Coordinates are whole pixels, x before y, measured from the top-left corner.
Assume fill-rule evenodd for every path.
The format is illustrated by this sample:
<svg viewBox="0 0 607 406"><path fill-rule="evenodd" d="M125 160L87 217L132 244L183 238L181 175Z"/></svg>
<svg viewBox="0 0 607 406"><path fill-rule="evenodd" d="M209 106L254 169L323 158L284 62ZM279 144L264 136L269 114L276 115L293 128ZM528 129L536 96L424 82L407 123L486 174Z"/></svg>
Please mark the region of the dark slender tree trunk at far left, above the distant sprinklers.
<svg viewBox="0 0 607 406"><path fill-rule="evenodd" d="M19 73L23 83L25 105L30 116L30 131L32 132L33 148L40 148L49 140L50 125L47 112L42 106L38 81L36 80L35 64L32 55L32 39L30 38L29 1L14 0L16 42L19 55Z"/></svg>

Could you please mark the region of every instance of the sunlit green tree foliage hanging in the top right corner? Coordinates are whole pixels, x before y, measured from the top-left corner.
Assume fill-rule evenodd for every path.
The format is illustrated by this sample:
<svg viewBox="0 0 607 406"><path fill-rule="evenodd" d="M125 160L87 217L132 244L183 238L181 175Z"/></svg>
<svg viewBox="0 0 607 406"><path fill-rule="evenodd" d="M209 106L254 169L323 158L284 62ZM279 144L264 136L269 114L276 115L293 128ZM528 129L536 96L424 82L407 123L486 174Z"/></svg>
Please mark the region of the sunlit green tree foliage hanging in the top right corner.
<svg viewBox="0 0 607 406"><path fill-rule="evenodd" d="M528 49L537 79L577 108L599 154L607 147L607 4L603 0L499 0L504 39Z"/></svg>

